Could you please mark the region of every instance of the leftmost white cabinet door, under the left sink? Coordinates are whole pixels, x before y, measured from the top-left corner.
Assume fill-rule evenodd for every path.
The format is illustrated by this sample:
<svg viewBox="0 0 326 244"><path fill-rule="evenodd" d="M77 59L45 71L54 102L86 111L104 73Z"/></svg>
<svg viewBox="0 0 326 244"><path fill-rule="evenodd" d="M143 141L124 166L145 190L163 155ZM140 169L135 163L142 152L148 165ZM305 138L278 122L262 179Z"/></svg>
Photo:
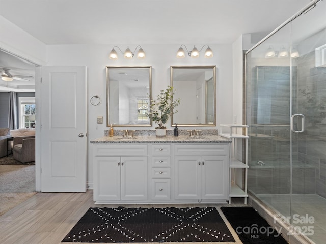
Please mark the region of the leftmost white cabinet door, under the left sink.
<svg viewBox="0 0 326 244"><path fill-rule="evenodd" d="M95 157L94 200L120 200L120 157Z"/></svg>

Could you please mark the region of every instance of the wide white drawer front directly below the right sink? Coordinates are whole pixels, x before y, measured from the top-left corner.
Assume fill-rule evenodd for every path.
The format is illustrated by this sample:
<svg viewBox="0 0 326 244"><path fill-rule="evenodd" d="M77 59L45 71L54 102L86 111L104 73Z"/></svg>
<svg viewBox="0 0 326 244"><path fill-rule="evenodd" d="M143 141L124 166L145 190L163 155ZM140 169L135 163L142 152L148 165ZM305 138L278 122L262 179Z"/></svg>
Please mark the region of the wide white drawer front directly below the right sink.
<svg viewBox="0 0 326 244"><path fill-rule="evenodd" d="M182 144L175 145L175 155L228 155L227 144Z"/></svg>

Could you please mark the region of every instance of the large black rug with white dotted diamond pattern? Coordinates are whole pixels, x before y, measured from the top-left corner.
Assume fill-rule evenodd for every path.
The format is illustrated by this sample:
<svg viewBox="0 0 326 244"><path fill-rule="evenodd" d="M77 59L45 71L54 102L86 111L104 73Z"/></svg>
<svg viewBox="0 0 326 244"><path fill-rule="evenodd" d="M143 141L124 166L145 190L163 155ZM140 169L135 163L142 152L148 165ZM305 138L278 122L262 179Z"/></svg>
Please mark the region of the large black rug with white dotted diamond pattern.
<svg viewBox="0 0 326 244"><path fill-rule="evenodd" d="M235 242L213 207L90 208L62 242Z"/></svg>

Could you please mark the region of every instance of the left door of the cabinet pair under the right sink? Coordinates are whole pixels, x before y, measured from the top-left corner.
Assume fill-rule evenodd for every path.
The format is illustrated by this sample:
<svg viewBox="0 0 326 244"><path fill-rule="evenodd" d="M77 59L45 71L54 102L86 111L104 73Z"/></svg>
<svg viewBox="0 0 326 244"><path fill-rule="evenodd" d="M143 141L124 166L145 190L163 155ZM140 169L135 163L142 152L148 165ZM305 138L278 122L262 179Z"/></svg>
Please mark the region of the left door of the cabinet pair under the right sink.
<svg viewBox="0 0 326 244"><path fill-rule="evenodd" d="M201 199L200 156L175 156L174 198Z"/></svg>

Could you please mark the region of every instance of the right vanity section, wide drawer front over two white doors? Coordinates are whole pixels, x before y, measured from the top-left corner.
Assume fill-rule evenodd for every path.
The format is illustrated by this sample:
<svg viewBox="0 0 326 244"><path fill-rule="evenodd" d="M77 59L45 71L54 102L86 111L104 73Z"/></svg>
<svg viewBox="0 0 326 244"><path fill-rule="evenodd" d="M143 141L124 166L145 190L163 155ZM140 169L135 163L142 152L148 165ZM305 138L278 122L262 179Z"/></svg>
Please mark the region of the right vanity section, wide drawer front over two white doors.
<svg viewBox="0 0 326 244"><path fill-rule="evenodd" d="M228 145L184 144L174 147L176 200L228 200Z"/></svg>

